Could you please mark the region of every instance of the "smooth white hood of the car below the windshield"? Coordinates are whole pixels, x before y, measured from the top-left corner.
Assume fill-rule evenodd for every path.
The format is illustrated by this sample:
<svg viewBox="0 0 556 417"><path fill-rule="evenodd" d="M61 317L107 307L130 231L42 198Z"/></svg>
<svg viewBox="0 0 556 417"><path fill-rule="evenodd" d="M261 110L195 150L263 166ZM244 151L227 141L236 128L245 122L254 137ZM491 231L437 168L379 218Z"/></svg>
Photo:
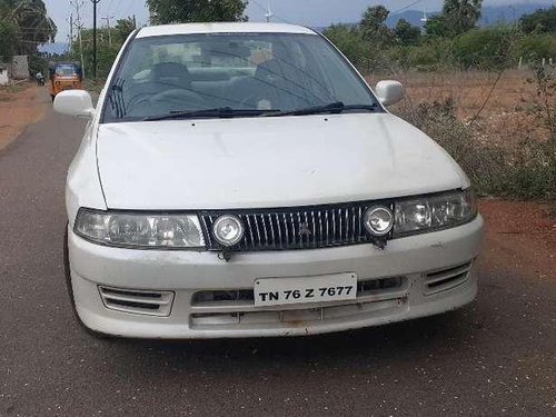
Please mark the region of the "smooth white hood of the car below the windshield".
<svg viewBox="0 0 556 417"><path fill-rule="evenodd" d="M100 125L111 209L291 207L420 195L468 179L389 113Z"/></svg>

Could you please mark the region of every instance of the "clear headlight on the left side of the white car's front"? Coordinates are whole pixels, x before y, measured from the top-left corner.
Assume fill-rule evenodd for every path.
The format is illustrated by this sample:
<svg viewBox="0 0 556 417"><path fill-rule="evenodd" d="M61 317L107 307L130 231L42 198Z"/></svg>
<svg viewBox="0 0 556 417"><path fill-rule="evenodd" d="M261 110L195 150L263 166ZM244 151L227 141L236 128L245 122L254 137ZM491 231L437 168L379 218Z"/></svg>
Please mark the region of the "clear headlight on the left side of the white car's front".
<svg viewBox="0 0 556 417"><path fill-rule="evenodd" d="M96 244L147 249L203 248L195 215L151 215L80 209L75 225L80 237Z"/></svg>

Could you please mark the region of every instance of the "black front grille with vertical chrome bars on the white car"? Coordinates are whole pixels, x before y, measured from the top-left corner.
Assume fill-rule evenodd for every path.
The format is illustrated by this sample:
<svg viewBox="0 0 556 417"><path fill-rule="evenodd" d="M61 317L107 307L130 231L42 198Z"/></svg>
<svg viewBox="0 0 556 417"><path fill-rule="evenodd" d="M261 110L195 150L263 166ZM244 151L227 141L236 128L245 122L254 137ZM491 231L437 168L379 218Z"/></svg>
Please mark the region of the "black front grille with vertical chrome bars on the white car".
<svg viewBox="0 0 556 417"><path fill-rule="evenodd" d="M376 203L207 211L201 214L201 222L209 250L221 250L212 235L212 225L221 215L236 215L244 222L244 239L234 251L328 248L370 242L373 238L366 231L363 218L365 211Z"/></svg>

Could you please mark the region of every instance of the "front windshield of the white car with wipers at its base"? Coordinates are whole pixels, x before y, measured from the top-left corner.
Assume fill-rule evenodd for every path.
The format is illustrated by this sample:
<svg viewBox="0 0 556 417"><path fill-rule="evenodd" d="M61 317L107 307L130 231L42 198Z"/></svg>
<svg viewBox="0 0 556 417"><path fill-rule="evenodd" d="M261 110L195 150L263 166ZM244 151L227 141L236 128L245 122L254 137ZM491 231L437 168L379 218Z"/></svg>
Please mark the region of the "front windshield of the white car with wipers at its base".
<svg viewBox="0 0 556 417"><path fill-rule="evenodd" d="M302 109L298 115L380 111L366 83L317 34L182 34L132 41L108 88L102 120L286 116Z"/></svg>

